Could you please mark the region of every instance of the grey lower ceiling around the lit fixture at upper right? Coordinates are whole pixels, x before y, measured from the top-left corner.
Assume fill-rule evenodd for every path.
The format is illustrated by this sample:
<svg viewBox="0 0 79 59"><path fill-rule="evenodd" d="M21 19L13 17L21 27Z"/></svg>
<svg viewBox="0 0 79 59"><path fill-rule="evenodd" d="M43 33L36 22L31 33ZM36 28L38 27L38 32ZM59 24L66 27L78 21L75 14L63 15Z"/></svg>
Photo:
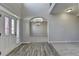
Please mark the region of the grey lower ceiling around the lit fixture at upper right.
<svg viewBox="0 0 79 59"><path fill-rule="evenodd" d="M79 14L79 6L78 3L56 3L54 8L52 9L51 14L60 14L60 13L67 13L67 9L72 9L70 14L78 15Z"/></svg>

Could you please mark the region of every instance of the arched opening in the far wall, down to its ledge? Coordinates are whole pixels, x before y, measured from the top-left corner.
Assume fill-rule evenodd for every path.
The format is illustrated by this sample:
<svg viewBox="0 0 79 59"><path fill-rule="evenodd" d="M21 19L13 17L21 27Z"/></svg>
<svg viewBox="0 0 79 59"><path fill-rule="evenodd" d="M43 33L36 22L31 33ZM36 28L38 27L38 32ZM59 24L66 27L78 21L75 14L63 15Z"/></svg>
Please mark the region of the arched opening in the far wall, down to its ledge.
<svg viewBox="0 0 79 59"><path fill-rule="evenodd" d="M30 20L30 36L47 37L47 21L44 18L33 18Z"/></svg>

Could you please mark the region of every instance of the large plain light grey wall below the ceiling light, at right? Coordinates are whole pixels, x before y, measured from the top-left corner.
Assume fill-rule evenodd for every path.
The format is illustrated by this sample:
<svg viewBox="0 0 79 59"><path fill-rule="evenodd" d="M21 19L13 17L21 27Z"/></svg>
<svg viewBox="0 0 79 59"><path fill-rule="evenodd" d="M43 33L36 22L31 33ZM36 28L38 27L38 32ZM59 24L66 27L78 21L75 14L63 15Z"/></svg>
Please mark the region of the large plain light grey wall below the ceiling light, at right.
<svg viewBox="0 0 79 59"><path fill-rule="evenodd" d="M64 15L61 18L51 16L49 20L49 41L79 42L79 18Z"/></svg>

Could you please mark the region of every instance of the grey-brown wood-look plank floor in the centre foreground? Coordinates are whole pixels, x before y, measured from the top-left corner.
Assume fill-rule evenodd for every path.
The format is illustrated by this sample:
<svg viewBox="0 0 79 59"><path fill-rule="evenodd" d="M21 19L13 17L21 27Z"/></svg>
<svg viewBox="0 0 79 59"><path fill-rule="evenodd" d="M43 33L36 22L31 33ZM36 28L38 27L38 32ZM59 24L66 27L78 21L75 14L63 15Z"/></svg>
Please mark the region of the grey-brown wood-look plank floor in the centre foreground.
<svg viewBox="0 0 79 59"><path fill-rule="evenodd" d="M58 56L58 53L48 43L24 43L15 48L8 56Z"/></svg>

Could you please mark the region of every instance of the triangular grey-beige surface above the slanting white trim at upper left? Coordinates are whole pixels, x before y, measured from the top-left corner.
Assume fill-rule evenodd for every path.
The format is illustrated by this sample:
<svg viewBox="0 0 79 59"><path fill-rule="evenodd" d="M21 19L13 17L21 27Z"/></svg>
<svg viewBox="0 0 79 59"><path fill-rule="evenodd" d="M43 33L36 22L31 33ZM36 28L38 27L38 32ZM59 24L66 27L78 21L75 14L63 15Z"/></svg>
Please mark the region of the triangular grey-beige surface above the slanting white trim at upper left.
<svg viewBox="0 0 79 59"><path fill-rule="evenodd" d="M21 17L22 3L0 3L0 6Z"/></svg>

